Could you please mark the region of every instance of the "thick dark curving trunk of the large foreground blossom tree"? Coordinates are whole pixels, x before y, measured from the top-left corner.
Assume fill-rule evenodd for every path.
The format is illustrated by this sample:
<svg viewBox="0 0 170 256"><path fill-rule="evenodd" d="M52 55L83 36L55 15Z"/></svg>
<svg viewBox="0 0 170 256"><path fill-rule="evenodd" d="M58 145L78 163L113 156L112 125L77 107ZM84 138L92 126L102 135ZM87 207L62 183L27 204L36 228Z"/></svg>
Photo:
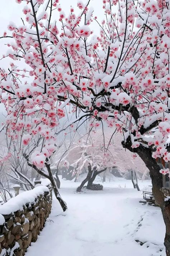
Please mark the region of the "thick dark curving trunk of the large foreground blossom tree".
<svg viewBox="0 0 170 256"><path fill-rule="evenodd" d="M123 143L122 143L123 144ZM124 144L123 144L124 146ZM126 143L126 148L132 151L131 142L128 140ZM166 256L170 256L170 204L168 201L164 201L165 196L161 191L162 188L162 174L160 173L160 166L156 160L152 157L152 152L150 148L140 147L133 149L136 152L146 167L149 169L151 180L152 180L152 193L155 198L155 203L161 208L163 219L166 226L166 234L164 239L164 245L166 248Z"/></svg>

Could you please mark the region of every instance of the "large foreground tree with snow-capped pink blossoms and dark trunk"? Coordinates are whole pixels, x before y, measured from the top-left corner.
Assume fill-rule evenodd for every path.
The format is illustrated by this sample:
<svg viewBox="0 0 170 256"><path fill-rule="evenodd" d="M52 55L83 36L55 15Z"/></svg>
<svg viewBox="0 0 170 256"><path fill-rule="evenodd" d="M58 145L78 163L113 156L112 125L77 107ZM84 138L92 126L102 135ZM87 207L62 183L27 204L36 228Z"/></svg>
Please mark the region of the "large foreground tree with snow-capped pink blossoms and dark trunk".
<svg viewBox="0 0 170 256"><path fill-rule="evenodd" d="M77 6L78 15L71 7L65 17L59 0L27 0L23 23L11 23L11 35L4 32L3 37L13 38L8 44L10 67L0 70L7 134L14 139L23 131L24 145L36 134L42 136L41 146L28 159L41 169L49 166L55 151L53 128L65 116L65 105L75 113L74 122L86 119L96 127L105 121L122 131L123 146L150 170L170 255L170 205L165 207L162 175L154 160L170 160L165 147L170 132L169 1L103 0L102 23L89 8L90 0ZM92 21L100 27L97 36L90 29ZM31 123L30 115L36 116ZM145 136L154 127L154 136Z"/></svg>

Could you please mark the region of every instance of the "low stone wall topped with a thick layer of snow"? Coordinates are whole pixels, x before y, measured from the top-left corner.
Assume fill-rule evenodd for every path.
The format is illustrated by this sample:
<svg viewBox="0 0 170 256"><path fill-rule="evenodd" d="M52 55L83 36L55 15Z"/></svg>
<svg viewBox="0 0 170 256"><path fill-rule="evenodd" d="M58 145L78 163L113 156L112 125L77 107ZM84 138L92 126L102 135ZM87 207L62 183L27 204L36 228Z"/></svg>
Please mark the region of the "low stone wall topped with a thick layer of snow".
<svg viewBox="0 0 170 256"><path fill-rule="evenodd" d="M51 186L40 185L0 206L0 256L25 255L43 229L51 205Z"/></svg>

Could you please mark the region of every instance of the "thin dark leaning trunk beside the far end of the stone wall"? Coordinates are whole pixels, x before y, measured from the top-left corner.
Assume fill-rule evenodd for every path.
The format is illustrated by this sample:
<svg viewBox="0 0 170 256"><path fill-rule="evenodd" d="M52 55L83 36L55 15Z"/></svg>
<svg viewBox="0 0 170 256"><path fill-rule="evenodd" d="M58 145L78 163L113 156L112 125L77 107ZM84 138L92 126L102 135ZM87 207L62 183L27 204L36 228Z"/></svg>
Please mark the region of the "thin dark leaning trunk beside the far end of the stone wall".
<svg viewBox="0 0 170 256"><path fill-rule="evenodd" d="M46 167L47 167L47 170L48 170L49 180L51 181L51 185L52 185L54 194L55 194L55 196L56 196L58 202L60 203L63 212L65 212L65 211L67 210L67 204L66 204L66 202L62 199L62 197L60 196L60 193L59 193L58 188L57 188L57 185L56 185L56 181L55 181L55 179L54 179L54 177L53 177L53 175L52 175L52 172L51 172L50 165L46 165Z"/></svg>

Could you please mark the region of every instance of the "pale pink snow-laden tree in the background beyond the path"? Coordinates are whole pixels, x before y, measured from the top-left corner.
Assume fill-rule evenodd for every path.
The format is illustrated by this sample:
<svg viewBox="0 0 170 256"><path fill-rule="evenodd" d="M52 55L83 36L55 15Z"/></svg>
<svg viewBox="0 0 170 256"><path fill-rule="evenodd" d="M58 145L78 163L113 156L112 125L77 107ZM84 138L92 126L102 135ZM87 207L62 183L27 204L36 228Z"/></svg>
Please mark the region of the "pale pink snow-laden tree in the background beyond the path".
<svg viewBox="0 0 170 256"><path fill-rule="evenodd" d="M87 188L93 189L96 176L107 168L117 167L121 173L136 168L141 172L146 170L140 157L130 151L124 151L121 145L123 139L121 134L114 135L110 140L109 131L110 129L107 129L104 136L101 130L81 136L77 141L75 140L60 162L60 166L63 165L66 168L72 166L72 175L76 175L76 178L84 170L88 172L77 191L80 191L86 182L88 182Z"/></svg>

